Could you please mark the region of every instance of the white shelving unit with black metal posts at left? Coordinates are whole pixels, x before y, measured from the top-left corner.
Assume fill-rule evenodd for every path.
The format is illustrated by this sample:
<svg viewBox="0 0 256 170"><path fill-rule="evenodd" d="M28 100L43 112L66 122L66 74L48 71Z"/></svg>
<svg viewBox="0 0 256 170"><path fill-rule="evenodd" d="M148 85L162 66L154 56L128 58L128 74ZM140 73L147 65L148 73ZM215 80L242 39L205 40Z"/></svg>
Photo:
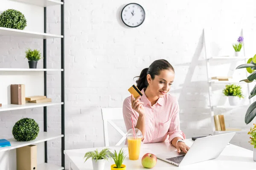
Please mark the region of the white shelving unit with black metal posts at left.
<svg viewBox="0 0 256 170"><path fill-rule="evenodd" d="M42 14L44 14L44 17L39 17L40 19L43 19L44 21L44 31L46 31L46 8L47 6L55 6L55 5L60 5L61 7L61 34L64 34L64 0L61 1L57 1L57 0L9 0L9 1L13 1L13 2L17 2L18 5L23 5L26 6L24 4L21 3L25 3L28 4L29 6L34 5L34 6L39 6L42 7ZM5 1L6 4L8 4L7 0ZM3 3L5 3L3 2ZM11 2L13 4L13 2ZM10 4L11 4L10 3ZM15 3L16 6L16 3ZM33 6L31 6L32 8ZM30 8L30 7L29 7ZM17 9L18 10L18 9ZM40 10L41 11L41 10ZM41 14L41 13L38 13ZM36 16L34 16L36 17ZM33 17L32 17L33 18ZM52 38L62 38L61 39L61 68L64 68L64 36L63 35L55 35L55 34L48 34L48 33L44 33L44 32L36 32L36 31L27 31L27 30L18 30L18 29L12 29L12 28L3 28L0 27L0 36L14 36L14 37L29 37L29 38L35 38L35 39L42 39L44 40L44 55L46 58L46 39L52 39ZM29 48L29 46L28 46ZM43 53L42 53L43 54ZM46 59L44 61L44 63L46 63ZM63 64L63 65L62 65ZM9 90L8 87L6 87L7 85L11 84L9 82L12 83L16 83L17 78L19 78L18 82L20 82L20 79L23 79L23 77L25 77L25 79L29 79L28 84L32 84L34 86L36 86L39 91L39 94L41 93L46 93L46 71L59 71L61 72L61 94L64 94L64 90L62 89L62 87L64 87L64 79L62 79L62 77L64 77L64 69L48 69L46 68L46 65L44 65L44 68L39 68L39 69L28 69L28 68L0 68L0 77L1 81L5 81L5 79L7 79L6 83L2 83L3 89L5 90ZM35 73L34 73L35 72ZM41 73L42 72L42 73ZM15 75L15 77L13 76ZM35 79L35 75L38 77L37 79ZM22 78L20 78L20 76L22 76ZM34 79L31 78L31 76L34 76ZM31 80L32 79L32 80ZM44 79L44 80L42 80ZM40 81L38 81L40 80ZM44 83L44 85L42 85L42 83ZM40 85L39 85L40 84ZM43 88L44 87L44 88ZM26 89L26 91L31 91L31 88ZM44 91L45 90L45 91ZM33 91L35 92L35 91ZM5 94L6 95L6 94ZM9 94L8 94L9 95ZM3 96L2 96L3 97ZM4 97L6 100L4 102L7 101L7 98L10 96L6 96ZM8 100L9 101L9 100ZM64 97L63 95L61 95L61 101L64 101ZM39 107L44 107L44 129L42 129L41 131L44 132L40 132L38 134L38 136L36 137L35 140L33 141L28 141L28 142L19 142L16 141L14 138L11 139L7 139L10 141L11 146L10 147L0 147L0 169L5 169L2 168L1 165L3 165L3 167L6 166L6 164L9 164L9 162L14 162L16 163L16 161L12 161L12 159L16 158L16 152L14 152L13 150L15 150L18 147L24 147L30 144L40 144L40 151L43 149L44 147L44 154L43 153L38 153L40 156L40 161L39 164L37 166L37 170L64 170L64 153L61 152L61 166L56 166L54 164L49 164L49 163L41 163L41 162L45 162L47 161L47 141L49 140L53 140L53 139L58 139L61 138L61 151L64 150L64 123L62 124L62 122L64 122L64 102L44 102L44 103L29 103L27 102L24 105L13 105L13 104L8 104L7 103L3 103L3 101L0 101L0 103L2 102L2 107L0 107L0 114L3 111L14 111L14 110L21 110L21 109L29 109L29 108L39 108ZM47 106L55 106L55 105L59 105L61 106L61 133L62 134L55 134L55 133L49 133L47 132L47 127L46 123L45 123L45 119L47 119L47 116L45 113L47 113ZM63 119L62 119L63 118ZM42 142L45 142L44 144ZM42 143L42 144L41 144ZM10 155L9 155L10 154ZM44 159L41 155L44 155ZM3 159L5 158L5 159ZM6 162L4 162L6 161ZM11 167L9 167L11 165ZM16 170L15 167L16 165L9 164L9 170Z"/></svg>

